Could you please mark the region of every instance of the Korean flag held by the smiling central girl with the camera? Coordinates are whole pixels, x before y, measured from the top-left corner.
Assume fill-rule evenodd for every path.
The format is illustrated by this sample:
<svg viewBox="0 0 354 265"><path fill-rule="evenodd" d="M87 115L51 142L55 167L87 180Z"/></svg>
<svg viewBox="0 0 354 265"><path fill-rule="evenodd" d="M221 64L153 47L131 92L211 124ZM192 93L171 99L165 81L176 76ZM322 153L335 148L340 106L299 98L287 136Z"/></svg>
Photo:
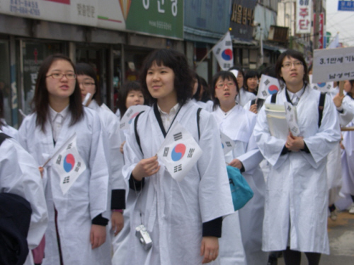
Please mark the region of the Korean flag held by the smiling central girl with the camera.
<svg viewBox="0 0 354 265"><path fill-rule="evenodd" d="M202 149L193 136L177 121L169 129L166 139L157 152L173 179L180 182L202 155Z"/></svg>

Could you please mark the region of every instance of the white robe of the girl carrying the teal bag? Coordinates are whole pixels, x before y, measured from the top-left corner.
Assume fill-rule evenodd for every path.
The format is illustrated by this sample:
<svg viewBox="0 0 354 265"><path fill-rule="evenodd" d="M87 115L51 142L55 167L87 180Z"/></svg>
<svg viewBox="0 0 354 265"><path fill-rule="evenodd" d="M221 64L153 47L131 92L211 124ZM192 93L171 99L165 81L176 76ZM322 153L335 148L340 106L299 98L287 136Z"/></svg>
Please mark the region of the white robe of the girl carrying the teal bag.
<svg viewBox="0 0 354 265"><path fill-rule="evenodd" d="M221 264L235 264L235 255L239 247L244 248L246 254L244 264L266 264L268 254L262 251L265 182L259 167L263 155L258 150L252 134L253 127L256 124L256 114L244 110L241 105L234 106L227 115L220 107L217 107L217 110L212 113L217 119L220 131L229 136L235 143L234 149L225 155L226 162L230 163L234 158L241 161L245 169L242 175L254 193L253 198L243 208L234 213L234 215L239 216L243 246L237 245L237 239L229 234L232 230L237 230L237 223L234 223L234 225L229 223L229 226L223 227L222 239L220 240L222 242L220 245ZM225 220L228 218L230 216L227 216ZM227 247L226 253L222 247ZM234 253L232 253L232 249ZM230 254L234 255L234 261L232 257L229 257ZM223 257L223 255L226 257Z"/></svg>

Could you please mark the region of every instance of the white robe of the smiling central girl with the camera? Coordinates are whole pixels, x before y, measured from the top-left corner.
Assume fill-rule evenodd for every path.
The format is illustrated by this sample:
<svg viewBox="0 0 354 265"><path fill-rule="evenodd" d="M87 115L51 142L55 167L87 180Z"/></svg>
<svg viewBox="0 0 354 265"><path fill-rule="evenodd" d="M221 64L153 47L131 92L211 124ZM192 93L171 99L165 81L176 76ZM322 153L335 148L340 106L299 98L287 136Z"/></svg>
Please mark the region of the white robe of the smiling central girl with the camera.
<svg viewBox="0 0 354 265"><path fill-rule="evenodd" d="M176 121L188 129L203 154L181 182L176 182L161 163L156 175L144 178L131 215L131 231L141 224L142 213L152 248L144 250L135 232L130 232L126 264L201 264L202 223L234 212L217 124L211 114L202 110L198 140L197 110L193 102L186 102ZM143 155L133 126L124 146L123 174L127 178L139 160L156 155L164 141L153 109L142 113L137 122ZM130 189L130 193L135 191Z"/></svg>

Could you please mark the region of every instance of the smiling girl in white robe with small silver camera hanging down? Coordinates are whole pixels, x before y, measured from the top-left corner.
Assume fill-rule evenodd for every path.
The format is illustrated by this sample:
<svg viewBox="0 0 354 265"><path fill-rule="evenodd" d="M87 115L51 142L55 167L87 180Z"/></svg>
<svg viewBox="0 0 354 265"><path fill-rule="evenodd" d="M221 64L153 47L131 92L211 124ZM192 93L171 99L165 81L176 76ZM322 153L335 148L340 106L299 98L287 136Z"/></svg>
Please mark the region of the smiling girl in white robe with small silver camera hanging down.
<svg viewBox="0 0 354 265"><path fill-rule="evenodd" d="M154 105L138 117L142 151L131 125L124 146L123 173L130 179L130 192L137 194L131 230L144 224L153 243L145 250L131 232L126 264L210 262L218 255L222 216L234 212L217 124L202 110L198 137L198 106L189 101L192 78L180 52L152 52L144 62L141 78ZM156 157L173 119L188 129L203 151L181 182L173 179Z"/></svg>

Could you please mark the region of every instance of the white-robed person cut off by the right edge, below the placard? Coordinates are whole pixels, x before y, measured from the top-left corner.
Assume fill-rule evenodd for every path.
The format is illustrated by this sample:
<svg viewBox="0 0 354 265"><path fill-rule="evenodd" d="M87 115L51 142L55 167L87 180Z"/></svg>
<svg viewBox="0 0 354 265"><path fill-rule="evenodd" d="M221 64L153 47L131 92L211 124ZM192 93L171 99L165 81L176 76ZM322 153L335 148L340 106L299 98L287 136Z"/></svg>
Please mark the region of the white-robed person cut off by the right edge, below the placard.
<svg viewBox="0 0 354 265"><path fill-rule="evenodd" d="M350 104L354 105L354 80L346 81L344 83L344 90L346 90L346 97L350 100ZM354 119L348 124L354 126ZM341 161L343 173L343 186L341 192L350 195L353 203L349 208L349 213L354 214L354 134L353 131L343 131L344 147Z"/></svg>

